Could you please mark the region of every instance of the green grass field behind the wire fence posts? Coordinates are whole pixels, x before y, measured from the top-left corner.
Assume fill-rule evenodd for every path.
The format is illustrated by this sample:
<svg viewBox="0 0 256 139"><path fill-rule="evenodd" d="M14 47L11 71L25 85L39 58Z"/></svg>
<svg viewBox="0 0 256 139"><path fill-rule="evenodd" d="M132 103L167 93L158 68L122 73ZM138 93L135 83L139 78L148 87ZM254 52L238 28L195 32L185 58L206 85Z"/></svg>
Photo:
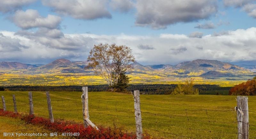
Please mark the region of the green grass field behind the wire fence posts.
<svg viewBox="0 0 256 139"><path fill-rule="evenodd" d="M1 91L7 110L13 111L12 94L16 95L18 111L28 113L28 92ZM81 94L50 92L54 118L83 124ZM140 95L143 132L164 138L236 138L236 112L231 111L236 106L235 98L216 95ZM45 92L33 92L33 102L36 116L48 117ZM131 94L89 92L90 120L97 126L122 127L127 132L134 132L133 105ZM256 137L256 127L253 126L256 125L254 96L249 96L249 111L252 125L249 134Z"/></svg>

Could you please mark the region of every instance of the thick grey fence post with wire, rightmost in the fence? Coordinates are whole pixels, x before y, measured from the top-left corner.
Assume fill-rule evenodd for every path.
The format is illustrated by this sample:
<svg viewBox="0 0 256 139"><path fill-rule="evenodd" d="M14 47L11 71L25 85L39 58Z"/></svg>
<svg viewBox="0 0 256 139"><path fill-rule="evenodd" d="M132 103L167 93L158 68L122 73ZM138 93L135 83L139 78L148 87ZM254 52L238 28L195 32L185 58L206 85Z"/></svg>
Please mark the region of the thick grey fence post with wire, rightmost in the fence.
<svg viewBox="0 0 256 139"><path fill-rule="evenodd" d="M237 96L237 122L238 122L238 139L248 139L249 135L249 112L248 97Z"/></svg>

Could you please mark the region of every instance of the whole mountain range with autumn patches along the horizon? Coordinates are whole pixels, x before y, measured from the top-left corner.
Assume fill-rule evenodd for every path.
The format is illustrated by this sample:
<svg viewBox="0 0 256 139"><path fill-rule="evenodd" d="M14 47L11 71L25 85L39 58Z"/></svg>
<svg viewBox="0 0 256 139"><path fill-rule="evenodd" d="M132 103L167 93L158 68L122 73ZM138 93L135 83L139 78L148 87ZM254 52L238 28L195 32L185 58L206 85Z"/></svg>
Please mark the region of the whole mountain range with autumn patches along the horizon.
<svg viewBox="0 0 256 139"><path fill-rule="evenodd" d="M83 73L93 75L92 70L84 70L88 61L71 62L68 59L57 59L49 64L24 64L19 62L0 62L0 73L20 74L56 74L56 73ZM233 76L241 73L252 73L255 70L253 65L234 65L218 60L196 59L193 61L181 62L177 65L141 65L134 63L130 74L164 74L166 76L201 76L201 77L222 77Z"/></svg>

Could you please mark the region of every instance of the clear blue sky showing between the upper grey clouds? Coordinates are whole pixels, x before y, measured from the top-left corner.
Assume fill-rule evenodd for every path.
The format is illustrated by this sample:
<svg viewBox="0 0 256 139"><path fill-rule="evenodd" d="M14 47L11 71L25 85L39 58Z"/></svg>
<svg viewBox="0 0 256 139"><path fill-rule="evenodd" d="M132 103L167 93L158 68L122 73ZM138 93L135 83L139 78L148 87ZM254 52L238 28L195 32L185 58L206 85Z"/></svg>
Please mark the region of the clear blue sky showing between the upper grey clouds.
<svg viewBox="0 0 256 139"><path fill-rule="evenodd" d="M135 26L135 14L136 9L132 9L127 13L120 13L108 10L112 14L111 19L93 19L93 20L83 20L74 19L70 16L63 16L62 22L60 24L61 31L67 34L73 33L92 33L97 35L159 35L165 33L171 34L185 34L188 35L191 32L200 31L204 35L212 34L214 32L226 31L226 30L236 30L236 29L247 29L255 26L255 19L248 16L248 14L242 11L240 8L226 7L221 1L218 2L218 12L211 16L209 19L201 19L193 22L180 22L176 24L169 25L166 29L152 29L149 27L138 27ZM48 14L58 15L51 10L50 7L44 6L41 1L36 1L29 4L29 6L22 7L22 10L35 9L40 15L47 16ZM15 26L8 16L12 13L1 14L0 30L8 30L17 32L20 30L19 27ZM224 15L223 15L224 14ZM194 28L198 23L204 24L205 22L213 22L215 25L220 22L226 22L221 26L213 29L198 29Z"/></svg>

